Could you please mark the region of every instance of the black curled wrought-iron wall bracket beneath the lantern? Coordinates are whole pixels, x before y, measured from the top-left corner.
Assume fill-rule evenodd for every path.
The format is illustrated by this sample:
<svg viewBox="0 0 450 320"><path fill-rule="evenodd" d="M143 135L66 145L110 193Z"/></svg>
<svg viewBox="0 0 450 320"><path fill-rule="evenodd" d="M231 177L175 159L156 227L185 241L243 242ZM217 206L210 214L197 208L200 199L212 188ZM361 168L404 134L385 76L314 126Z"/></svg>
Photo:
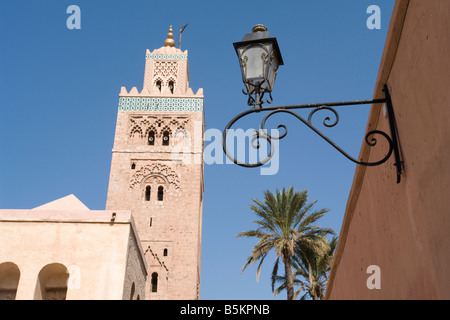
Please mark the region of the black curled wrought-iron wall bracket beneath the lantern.
<svg viewBox="0 0 450 320"><path fill-rule="evenodd" d="M291 106L278 106L278 107L262 107L263 102L270 103L272 101L272 96L270 96L270 100L263 101L263 95L260 95L258 90L255 93L255 97L251 97L250 94L246 93L244 91L244 94L249 95L248 104L250 106L254 106L254 108L244 111L234 117L228 125L225 127L225 130L223 132L222 137L222 146L224 153L226 156L233 161L233 163L247 168L255 168L260 167L270 161L270 159L273 157L275 153L275 148L273 145L272 140L281 140L284 137L286 137L288 130L287 127L284 124L278 125L278 131L282 131L281 134L278 136L272 136L269 134L268 130L266 129L266 122L269 118L271 118L273 115L278 113L287 113L298 120L300 120L303 124L305 124L308 128L310 128L312 131L314 131L316 134L318 134L322 139L324 139L326 142L328 142L331 146L333 146L336 150L338 150L341 154L343 154L347 159L351 160L352 162L364 165L364 166L378 166L380 164L385 163L391 155L394 153L395 160L396 160L396 167L397 167L397 182L400 182L400 175L402 174L402 164L400 161L400 155L399 155L399 148L398 148L398 142L397 142L397 136L396 136L396 128L395 128L395 119L393 118L393 109L392 109L392 103L390 100L390 95L387 86L384 88L385 91L385 99L373 99L373 100L362 100L362 101L345 101L345 102L332 102L332 103L317 103L317 104L304 104L304 105L291 105ZM389 114L389 125L391 129L391 136L386 134L383 131L380 130L372 130L368 132L365 136L365 143L367 143L370 147L373 147L377 145L377 138L376 136L380 136L381 138L385 139L388 144L388 150L385 154L385 156L375 162L367 162L355 159L354 157L350 156L347 152L345 152L341 147L339 147L337 144L335 144L331 139L329 139L326 135L324 135L320 130L318 130L313 124L312 124L312 118L318 111L329 111L334 116L334 119L331 119L329 116L325 117L323 120L323 125L327 128L331 128L336 126L339 123L339 114L338 112L333 108L336 106L348 106L348 105L362 105L362 104L374 104L374 103L386 103L387 111ZM292 111L293 109L312 109L308 115L308 119L306 120L302 116L300 116L298 113ZM226 138L228 131L231 129L231 127L241 118L252 114L252 113L259 113L262 111L269 112L262 120L260 129L255 131L254 136L252 137L251 144L253 148L260 148L260 140L265 140L270 145L270 152L264 159L255 162L255 163L245 163L237 160L232 154L230 154L229 150L226 147ZM255 144L256 142L256 144Z"/></svg>

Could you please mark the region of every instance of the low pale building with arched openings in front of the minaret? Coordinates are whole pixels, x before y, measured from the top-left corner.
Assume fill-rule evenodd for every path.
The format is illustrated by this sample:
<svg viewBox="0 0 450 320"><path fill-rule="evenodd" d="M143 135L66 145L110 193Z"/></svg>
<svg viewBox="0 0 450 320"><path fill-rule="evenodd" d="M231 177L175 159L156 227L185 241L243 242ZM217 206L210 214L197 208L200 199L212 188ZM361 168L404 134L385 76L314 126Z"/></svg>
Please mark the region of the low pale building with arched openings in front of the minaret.
<svg viewBox="0 0 450 320"><path fill-rule="evenodd" d="M75 196L0 210L0 300L143 299L147 265L129 210Z"/></svg>

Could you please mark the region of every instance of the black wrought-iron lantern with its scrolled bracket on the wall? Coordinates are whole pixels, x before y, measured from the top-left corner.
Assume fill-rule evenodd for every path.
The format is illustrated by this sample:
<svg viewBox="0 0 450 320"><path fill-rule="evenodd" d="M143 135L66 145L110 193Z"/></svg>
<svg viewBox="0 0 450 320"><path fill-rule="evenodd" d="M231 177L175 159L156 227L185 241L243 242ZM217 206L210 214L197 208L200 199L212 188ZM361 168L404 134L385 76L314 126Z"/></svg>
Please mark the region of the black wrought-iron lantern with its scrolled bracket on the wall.
<svg viewBox="0 0 450 320"><path fill-rule="evenodd" d="M278 72L278 67L284 64L280 49L278 47L277 39L269 35L269 32L267 31L267 28L265 26L258 24L255 27L253 27L252 33L246 34L242 39L242 41L236 42L233 45L239 59L239 64L242 73L242 81L244 82L245 86L243 93L245 95L248 95L247 104L250 107L252 107L234 117L225 127L225 130L223 132L222 147L226 156L231 161L233 161L233 163L247 168L259 167L268 163L275 152L272 140L275 139L280 140L284 138L287 135L287 128L284 124L280 124L278 126L278 129L283 129L284 132L278 135L277 137L274 137L268 133L265 127L266 121L274 114L288 113L290 115L293 115L295 118L304 123L307 127L309 127L311 130L317 133L320 137L322 137L325 141L327 141L331 146L333 146L346 158L359 165L378 166L380 164L385 163L391 157L391 155L394 154L395 166L397 169L397 183L400 182L400 177L402 174L402 162L400 160L400 152L398 147L394 112L387 85L384 85L383 88L383 92L385 95L383 99L263 107L264 103L270 104L273 101L272 90ZM269 99L264 100L265 94L269 94ZM382 159L375 162L366 162L353 158L348 153L346 153L342 148L336 145L332 140L330 140L327 136L325 136L322 132L320 132L315 126L313 126L311 122L313 115L317 111L326 110L334 115L334 121L331 121L330 117L326 117L325 120L323 121L323 125L328 128L334 127L339 122L339 115L337 111L334 109L334 107L356 106L356 105L378 104L378 103L386 104L386 111L388 114L391 135L389 136L387 133L380 130L372 130L366 134L365 142L370 147L373 147L377 144L375 135L379 135L382 138L384 138L389 145L386 155ZM295 109L312 109L312 110L309 113L308 119L305 119L299 114L292 111ZM236 123L236 121L238 121L239 119L243 118L246 115L258 112L268 112L268 114L263 118L260 125L260 129L255 132L252 139L252 144L255 141L258 141L256 145L253 144L253 147L259 148L260 146L259 140L260 139L266 140L270 144L270 152L267 155L267 157L255 163L246 163L239 161L227 149L226 143L227 134L230 128L233 126L233 124Z"/></svg>

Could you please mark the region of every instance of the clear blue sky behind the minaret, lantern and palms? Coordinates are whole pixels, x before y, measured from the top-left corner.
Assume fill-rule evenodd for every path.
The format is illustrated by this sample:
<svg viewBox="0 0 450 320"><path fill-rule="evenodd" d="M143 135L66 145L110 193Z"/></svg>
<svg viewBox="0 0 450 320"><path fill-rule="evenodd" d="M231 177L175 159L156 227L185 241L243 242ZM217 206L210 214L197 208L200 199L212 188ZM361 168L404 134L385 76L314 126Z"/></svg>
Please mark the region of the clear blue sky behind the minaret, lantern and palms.
<svg viewBox="0 0 450 320"><path fill-rule="evenodd" d="M66 27L72 4L81 8L81 30ZM373 4L381 9L379 30L366 27ZM274 105L370 99L393 4L2 0L0 208L33 208L68 194L105 208L120 87L142 88L145 51L163 46L170 25L189 23L182 49L189 51L190 85L204 88L206 128L222 130L248 108L232 43L255 24L277 37L285 62ZM357 157L369 108L338 109L339 128L323 131ZM330 209L320 225L340 231L355 164L297 120L275 120L289 129L276 175L205 166L201 299L274 299L274 260L267 259L259 282L256 267L241 274L255 241L235 238L254 228L249 203L266 189L307 189L317 209Z"/></svg>

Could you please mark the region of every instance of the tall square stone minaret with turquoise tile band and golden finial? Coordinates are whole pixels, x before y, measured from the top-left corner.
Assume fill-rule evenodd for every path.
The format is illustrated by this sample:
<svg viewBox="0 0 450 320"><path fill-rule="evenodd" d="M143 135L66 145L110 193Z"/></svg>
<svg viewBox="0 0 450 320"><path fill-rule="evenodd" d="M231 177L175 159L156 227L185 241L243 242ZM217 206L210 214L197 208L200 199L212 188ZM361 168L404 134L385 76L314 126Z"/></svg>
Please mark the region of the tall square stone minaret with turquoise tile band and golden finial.
<svg viewBox="0 0 450 320"><path fill-rule="evenodd" d="M188 53L147 50L141 92L122 87L107 210L131 210L148 265L147 300L199 299L203 89L189 87Z"/></svg>

